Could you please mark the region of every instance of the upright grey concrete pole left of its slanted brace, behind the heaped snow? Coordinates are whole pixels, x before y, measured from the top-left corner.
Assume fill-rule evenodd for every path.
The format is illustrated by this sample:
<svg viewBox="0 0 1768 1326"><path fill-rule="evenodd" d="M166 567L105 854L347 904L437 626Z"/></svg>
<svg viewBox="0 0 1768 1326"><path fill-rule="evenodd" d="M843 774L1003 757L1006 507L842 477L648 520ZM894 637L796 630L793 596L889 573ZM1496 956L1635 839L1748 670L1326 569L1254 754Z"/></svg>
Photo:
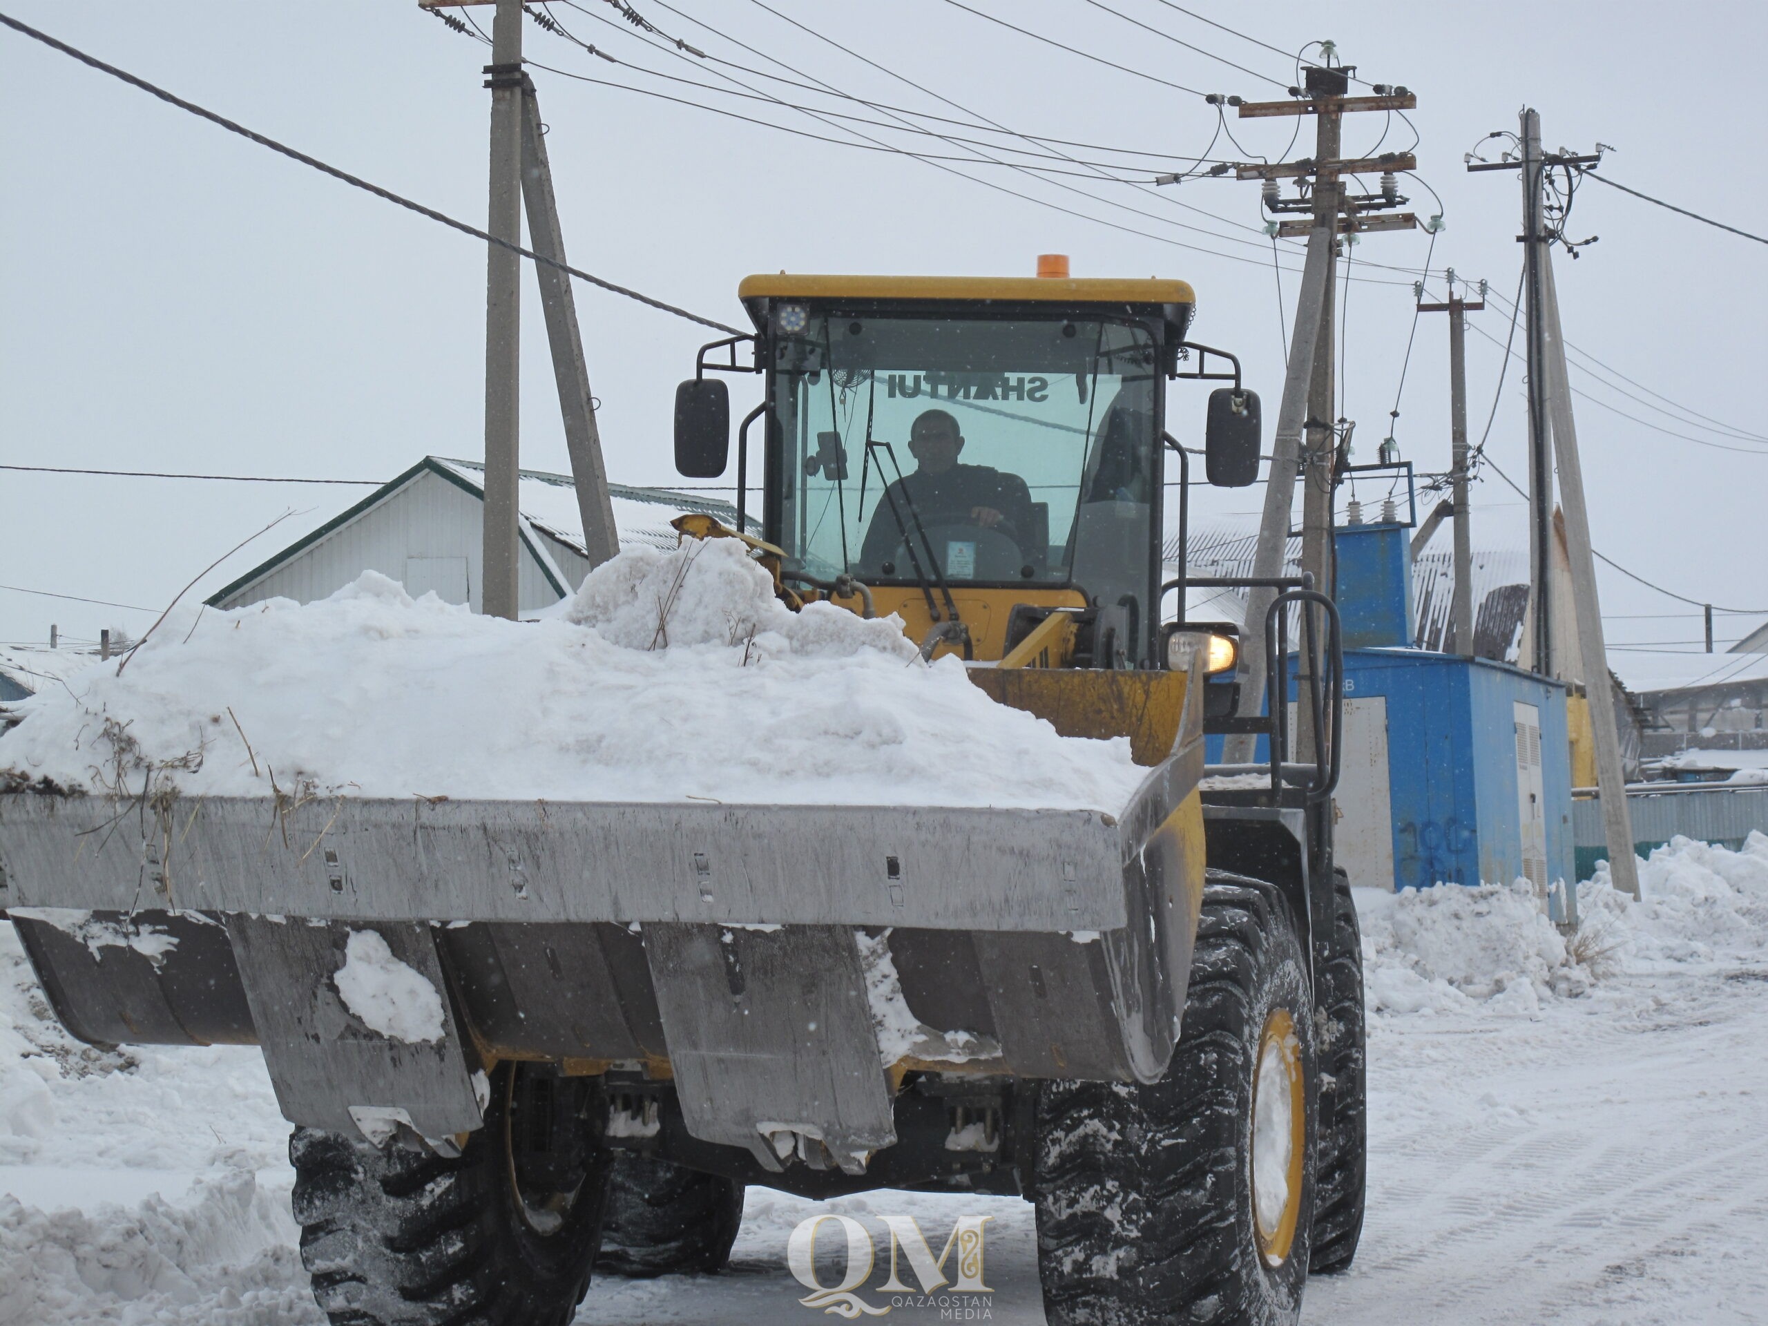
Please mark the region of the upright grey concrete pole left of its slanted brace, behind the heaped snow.
<svg viewBox="0 0 1768 1326"><path fill-rule="evenodd" d="M484 228L522 244L522 0L497 0L492 19L492 184ZM522 255L492 244L484 274L484 555L479 610L514 619L522 568L518 486Z"/></svg>

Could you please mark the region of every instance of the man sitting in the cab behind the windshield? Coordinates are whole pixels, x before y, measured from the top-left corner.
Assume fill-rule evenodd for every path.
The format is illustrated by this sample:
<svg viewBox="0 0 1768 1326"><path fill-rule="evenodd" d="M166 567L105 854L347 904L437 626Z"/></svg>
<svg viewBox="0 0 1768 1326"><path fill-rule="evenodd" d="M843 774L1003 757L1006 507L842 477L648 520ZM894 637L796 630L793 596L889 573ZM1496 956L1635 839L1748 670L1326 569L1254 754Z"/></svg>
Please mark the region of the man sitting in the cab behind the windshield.
<svg viewBox="0 0 1768 1326"><path fill-rule="evenodd" d="M988 465L960 465L964 433L946 410L923 410L909 428L916 470L884 490L859 559L866 569L891 562L896 548L934 525L978 525L1006 536L1024 555L1033 530L1031 488L1017 474ZM888 575L888 573L886 573Z"/></svg>

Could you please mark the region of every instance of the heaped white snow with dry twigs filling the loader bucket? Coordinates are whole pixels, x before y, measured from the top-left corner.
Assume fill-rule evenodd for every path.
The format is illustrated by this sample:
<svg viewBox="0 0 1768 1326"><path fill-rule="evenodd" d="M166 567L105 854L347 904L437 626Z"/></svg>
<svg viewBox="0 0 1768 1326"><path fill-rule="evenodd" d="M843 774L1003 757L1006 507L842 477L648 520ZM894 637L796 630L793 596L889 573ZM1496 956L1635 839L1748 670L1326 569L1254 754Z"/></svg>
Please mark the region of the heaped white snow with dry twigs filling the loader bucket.
<svg viewBox="0 0 1768 1326"><path fill-rule="evenodd" d="M138 797L1119 810L1126 739L994 704L900 624L792 613L735 539L631 548L537 622L412 601L368 571L332 598L180 610L120 668L19 702L0 787Z"/></svg>

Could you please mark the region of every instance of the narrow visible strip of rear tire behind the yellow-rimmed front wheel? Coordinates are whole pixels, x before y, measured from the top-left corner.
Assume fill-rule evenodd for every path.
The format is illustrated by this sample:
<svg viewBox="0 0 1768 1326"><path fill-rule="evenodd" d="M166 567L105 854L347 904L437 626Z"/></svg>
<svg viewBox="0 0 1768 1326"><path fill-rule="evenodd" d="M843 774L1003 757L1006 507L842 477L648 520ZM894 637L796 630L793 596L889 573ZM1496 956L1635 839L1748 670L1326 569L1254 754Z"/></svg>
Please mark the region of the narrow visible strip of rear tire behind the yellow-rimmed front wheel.
<svg viewBox="0 0 1768 1326"><path fill-rule="evenodd" d="M1331 955L1319 987L1321 1142L1314 1183L1314 1248L1308 1271L1351 1268L1363 1236L1368 1176L1368 1043L1363 1027L1363 932L1351 877L1333 870Z"/></svg>

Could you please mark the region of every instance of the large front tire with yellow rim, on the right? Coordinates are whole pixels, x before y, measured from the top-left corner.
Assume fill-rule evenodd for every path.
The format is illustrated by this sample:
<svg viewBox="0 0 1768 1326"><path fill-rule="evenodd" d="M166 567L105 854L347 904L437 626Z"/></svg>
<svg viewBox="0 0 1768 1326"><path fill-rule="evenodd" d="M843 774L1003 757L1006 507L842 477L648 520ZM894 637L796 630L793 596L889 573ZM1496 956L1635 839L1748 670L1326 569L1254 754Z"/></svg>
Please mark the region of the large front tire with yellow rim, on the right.
<svg viewBox="0 0 1768 1326"><path fill-rule="evenodd" d="M1209 872L1179 1045L1149 1086L1040 1094L1038 1262L1052 1326L1289 1326L1314 1204L1315 1052L1307 962L1282 895ZM1254 1186L1261 1061L1296 1132L1284 1183ZM1284 1151L1266 1140L1266 1156ZM1255 1213L1255 1192L1271 1215ZM1282 1192L1280 1202L1269 1202Z"/></svg>

